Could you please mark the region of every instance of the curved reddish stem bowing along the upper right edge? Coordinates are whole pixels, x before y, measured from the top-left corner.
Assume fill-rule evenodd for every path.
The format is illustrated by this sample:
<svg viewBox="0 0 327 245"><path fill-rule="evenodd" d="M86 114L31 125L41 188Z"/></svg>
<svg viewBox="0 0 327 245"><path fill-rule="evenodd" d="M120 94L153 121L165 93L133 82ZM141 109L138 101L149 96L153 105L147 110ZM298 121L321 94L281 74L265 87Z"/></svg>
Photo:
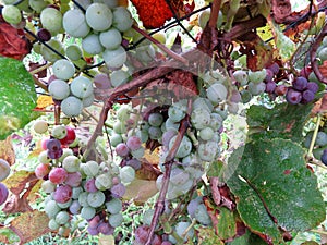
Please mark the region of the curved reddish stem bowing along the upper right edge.
<svg viewBox="0 0 327 245"><path fill-rule="evenodd" d="M310 61L311 61L312 69L314 71L315 75L317 76L318 81L320 81L324 84L327 84L327 77L324 77L324 75L322 74L317 59L316 59L317 49L318 49L319 45L322 44L325 36L327 36L327 24L324 25L322 32L316 37L315 42L312 46L312 49L310 51Z"/></svg>

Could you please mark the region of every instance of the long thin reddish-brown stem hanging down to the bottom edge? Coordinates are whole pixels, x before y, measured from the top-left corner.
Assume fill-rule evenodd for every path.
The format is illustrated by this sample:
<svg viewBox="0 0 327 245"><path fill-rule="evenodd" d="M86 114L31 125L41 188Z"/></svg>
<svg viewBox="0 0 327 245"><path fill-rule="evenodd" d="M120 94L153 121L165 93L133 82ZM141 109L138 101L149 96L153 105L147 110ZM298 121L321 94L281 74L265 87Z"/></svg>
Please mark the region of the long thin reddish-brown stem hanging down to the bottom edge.
<svg viewBox="0 0 327 245"><path fill-rule="evenodd" d="M148 231L148 236L145 245L150 245L153 236L155 234L155 229L157 226L158 220L160 215L164 211L165 208L165 200L166 200L166 194L168 191L168 185L169 185L169 179L170 179L170 173L171 173L171 167L174 162L174 156L180 147L180 144L183 139L183 135L186 133L187 128L190 127L190 114L192 111L192 100L189 99L187 101L187 113L185 118L181 121L179 133L177 135L175 142L171 148L171 150L168 152L168 156L166 157L165 161L165 168L166 171L164 173L164 179L162 179L162 187L159 193L159 197L155 204L155 213L152 220L152 224Z"/></svg>

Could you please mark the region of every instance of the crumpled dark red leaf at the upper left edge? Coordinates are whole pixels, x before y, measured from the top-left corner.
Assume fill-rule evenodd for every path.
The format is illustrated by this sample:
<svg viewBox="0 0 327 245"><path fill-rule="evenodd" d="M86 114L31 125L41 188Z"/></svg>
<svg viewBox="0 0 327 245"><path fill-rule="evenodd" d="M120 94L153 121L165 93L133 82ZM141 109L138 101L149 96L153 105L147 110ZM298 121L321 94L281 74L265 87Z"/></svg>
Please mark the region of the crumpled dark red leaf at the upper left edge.
<svg viewBox="0 0 327 245"><path fill-rule="evenodd" d="M0 54L16 60L22 60L29 53L31 45L25 36L19 30L0 20Z"/></svg>

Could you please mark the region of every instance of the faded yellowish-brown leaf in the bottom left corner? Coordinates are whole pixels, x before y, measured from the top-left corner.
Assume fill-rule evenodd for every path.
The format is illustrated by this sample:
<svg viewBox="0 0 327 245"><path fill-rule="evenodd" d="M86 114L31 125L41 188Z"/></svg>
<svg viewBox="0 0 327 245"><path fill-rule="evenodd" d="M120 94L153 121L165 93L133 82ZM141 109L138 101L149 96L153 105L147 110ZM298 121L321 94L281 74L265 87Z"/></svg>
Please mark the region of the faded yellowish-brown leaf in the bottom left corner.
<svg viewBox="0 0 327 245"><path fill-rule="evenodd" d="M34 210L12 220L10 229L20 236L20 244L25 244L50 232L48 223L49 218L45 212Z"/></svg>

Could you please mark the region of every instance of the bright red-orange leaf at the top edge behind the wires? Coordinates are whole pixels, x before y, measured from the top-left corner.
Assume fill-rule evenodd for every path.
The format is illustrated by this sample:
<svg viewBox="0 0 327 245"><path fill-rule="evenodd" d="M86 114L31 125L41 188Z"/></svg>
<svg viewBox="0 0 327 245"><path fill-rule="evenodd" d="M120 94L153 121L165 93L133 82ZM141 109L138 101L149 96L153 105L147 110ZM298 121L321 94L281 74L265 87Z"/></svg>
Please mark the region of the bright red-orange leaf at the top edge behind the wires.
<svg viewBox="0 0 327 245"><path fill-rule="evenodd" d="M137 9L140 20L147 29L161 27L166 21L173 17L166 0L131 0ZM170 1L175 13L179 9L183 9L183 1Z"/></svg>

